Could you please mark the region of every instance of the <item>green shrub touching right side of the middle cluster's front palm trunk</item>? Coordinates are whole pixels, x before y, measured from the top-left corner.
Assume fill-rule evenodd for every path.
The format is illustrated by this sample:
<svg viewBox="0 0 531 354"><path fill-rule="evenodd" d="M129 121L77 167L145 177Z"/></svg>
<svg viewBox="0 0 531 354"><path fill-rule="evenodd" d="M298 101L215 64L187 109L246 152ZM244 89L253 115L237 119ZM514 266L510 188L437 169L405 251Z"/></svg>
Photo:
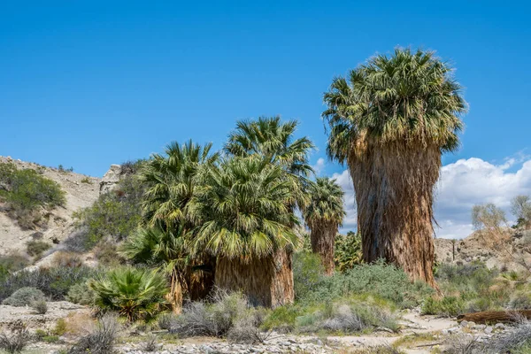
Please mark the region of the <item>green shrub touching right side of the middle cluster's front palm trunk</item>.
<svg viewBox="0 0 531 354"><path fill-rule="evenodd" d="M295 296L306 296L319 283L325 273L319 255L310 252L297 252L293 255L293 284Z"/></svg>

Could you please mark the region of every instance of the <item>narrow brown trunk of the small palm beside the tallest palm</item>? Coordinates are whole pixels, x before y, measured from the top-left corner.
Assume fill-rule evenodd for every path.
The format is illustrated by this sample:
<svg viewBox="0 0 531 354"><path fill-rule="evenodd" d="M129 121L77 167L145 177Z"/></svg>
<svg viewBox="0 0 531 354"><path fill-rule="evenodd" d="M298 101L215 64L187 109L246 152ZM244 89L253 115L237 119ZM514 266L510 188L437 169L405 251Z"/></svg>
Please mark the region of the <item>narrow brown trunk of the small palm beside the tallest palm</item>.
<svg viewBox="0 0 531 354"><path fill-rule="evenodd" d="M332 275L334 273L334 246L335 234L337 234L337 225L330 222L316 222L312 225L310 239L312 241L313 253L319 254L321 263L325 267L325 273Z"/></svg>

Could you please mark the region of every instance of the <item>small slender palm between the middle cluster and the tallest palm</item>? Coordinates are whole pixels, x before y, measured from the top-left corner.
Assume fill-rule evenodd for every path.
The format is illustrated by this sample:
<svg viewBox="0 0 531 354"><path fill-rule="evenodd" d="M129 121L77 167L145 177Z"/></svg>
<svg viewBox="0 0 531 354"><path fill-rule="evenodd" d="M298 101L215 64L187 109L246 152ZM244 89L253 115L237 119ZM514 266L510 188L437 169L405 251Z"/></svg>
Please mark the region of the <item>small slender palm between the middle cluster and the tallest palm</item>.
<svg viewBox="0 0 531 354"><path fill-rule="evenodd" d="M312 250L319 254L328 275L334 273L335 235L345 216L343 191L327 177L318 178L310 186L310 204L304 208L303 216L310 227Z"/></svg>

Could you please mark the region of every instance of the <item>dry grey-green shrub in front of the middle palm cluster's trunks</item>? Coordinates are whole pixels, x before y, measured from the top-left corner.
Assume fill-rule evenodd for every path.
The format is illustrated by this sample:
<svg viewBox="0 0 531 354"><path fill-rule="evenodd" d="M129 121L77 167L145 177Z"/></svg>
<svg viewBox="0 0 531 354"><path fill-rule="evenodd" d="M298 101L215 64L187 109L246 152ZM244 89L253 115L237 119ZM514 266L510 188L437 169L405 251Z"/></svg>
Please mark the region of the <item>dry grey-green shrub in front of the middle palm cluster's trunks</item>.
<svg viewBox="0 0 531 354"><path fill-rule="evenodd" d="M227 335L235 321L249 308L247 299L239 293L217 291L212 301L212 304L196 302L184 306L170 331L182 337Z"/></svg>

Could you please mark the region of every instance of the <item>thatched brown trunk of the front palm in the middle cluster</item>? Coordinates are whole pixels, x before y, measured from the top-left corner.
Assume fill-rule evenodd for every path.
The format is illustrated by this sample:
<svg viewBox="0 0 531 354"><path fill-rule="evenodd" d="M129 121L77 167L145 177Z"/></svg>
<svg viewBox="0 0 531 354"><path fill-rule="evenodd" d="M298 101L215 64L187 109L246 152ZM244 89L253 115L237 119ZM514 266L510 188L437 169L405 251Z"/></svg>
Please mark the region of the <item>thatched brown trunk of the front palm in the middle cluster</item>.
<svg viewBox="0 0 531 354"><path fill-rule="evenodd" d="M219 288L242 291L255 306L290 304L295 297L291 253L285 250L248 262L218 258L215 279Z"/></svg>

